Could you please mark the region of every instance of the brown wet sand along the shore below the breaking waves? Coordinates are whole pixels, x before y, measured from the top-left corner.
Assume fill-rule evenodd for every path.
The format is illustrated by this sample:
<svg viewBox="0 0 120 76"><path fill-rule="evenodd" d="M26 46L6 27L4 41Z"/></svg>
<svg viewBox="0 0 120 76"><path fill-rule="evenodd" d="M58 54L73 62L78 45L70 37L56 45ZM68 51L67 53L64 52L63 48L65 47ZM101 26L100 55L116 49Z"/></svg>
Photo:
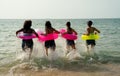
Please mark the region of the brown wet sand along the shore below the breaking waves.
<svg viewBox="0 0 120 76"><path fill-rule="evenodd" d="M16 69L13 73L0 73L0 76L120 76L120 64L91 64L67 68L44 68L30 70Z"/></svg>

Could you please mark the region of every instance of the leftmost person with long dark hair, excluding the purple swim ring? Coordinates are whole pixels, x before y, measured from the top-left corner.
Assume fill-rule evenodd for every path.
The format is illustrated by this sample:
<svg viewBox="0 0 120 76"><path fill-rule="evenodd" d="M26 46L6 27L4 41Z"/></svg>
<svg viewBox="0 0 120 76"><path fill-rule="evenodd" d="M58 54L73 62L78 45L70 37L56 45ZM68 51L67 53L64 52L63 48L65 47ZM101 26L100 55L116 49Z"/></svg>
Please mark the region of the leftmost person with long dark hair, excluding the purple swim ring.
<svg viewBox="0 0 120 76"><path fill-rule="evenodd" d="M32 26L32 21L31 20L26 20L24 22L23 28L16 31L16 35L19 32L23 32L26 35L31 35L31 34L34 33L38 37L38 34L34 31L34 29L31 28L31 26ZM32 53L32 50L33 50L33 40L32 39L27 39L27 40L23 39L22 40L22 49L23 49L23 51L26 52L27 48L30 48L30 53L29 53L29 59L30 59L31 53Z"/></svg>

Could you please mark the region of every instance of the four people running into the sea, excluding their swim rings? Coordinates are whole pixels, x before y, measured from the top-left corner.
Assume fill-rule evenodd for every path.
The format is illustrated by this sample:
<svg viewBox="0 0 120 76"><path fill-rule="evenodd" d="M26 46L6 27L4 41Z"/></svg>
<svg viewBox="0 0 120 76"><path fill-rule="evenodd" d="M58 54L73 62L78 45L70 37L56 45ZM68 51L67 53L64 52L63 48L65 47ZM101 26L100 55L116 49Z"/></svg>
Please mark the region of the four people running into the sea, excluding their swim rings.
<svg viewBox="0 0 120 76"><path fill-rule="evenodd" d="M88 21L87 25L88 25L88 27L86 28L86 32L84 33L85 35L90 35L90 34L95 33L95 32L100 33L100 31L98 29L96 29L95 27L92 27L92 21ZM38 33L33 28L31 28L31 26L32 26L32 21L31 20L26 20L24 22L23 28L16 31L16 35L19 32L23 32L27 35L35 34L36 37L39 37ZM73 28L71 28L71 23L70 22L66 23L66 27L67 27L66 32L64 32L62 34L72 34L72 33L74 33L75 35L77 35L77 32ZM44 34L42 33L41 35L46 36L46 35L52 34L52 33L60 34L60 31L53 28L50 21L46 21L46 23L45 23L45 33ZM26 51L25 50L26 48L30 49L29 58L31 57L31 54L32 54L33 45L34 45L34 43L33 43L32 38L31 39L22 39L22 49L23 49L23 51ZM67 49L69 49L69 48L72 48L74 50L76 49L74 40L66 39L66 45L67 45L66 46ZM87 46L87 50L89 52L88 45L91 45L91 48L94 48L95 40L86 40L86 46ZM52 49L53 51L55 51L55 49L56 49L55 40L52 39L52 40L45 41L44 42L44 47L45 47L45 50L46 50L46 55L48 56L48 49L49 48Z"/></svg>

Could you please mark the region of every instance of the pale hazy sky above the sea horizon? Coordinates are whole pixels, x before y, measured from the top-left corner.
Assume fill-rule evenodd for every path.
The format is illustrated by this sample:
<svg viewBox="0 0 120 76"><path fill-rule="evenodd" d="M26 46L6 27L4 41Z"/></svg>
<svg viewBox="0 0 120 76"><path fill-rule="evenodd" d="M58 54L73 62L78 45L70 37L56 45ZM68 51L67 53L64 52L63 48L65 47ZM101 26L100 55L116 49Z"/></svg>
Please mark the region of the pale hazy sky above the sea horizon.
<svg viewBox="0 0 120 76"><path fill-rule="evenodd" d="M120 0L0 0L3 18L120 18Z"/></svg>

